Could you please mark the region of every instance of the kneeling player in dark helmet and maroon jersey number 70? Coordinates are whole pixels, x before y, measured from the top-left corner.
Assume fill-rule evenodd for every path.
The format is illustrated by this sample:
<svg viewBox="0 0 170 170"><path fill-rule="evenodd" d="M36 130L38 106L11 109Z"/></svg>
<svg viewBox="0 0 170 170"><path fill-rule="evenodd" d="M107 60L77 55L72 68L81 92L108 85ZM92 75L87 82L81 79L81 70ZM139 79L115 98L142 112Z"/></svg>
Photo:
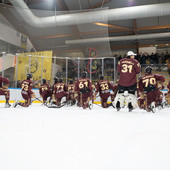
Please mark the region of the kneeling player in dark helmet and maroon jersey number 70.
<svg viewBox="0 0 170 170"><path fill-rule="evenodd" d="M163 84L164 81L165 78L162 75L152 74L152 67L146 67L145 75L139 80L140 96L145 99L146 111L153 113L156 111L155 106L159 104L160 99L158 83Z"/></svg>

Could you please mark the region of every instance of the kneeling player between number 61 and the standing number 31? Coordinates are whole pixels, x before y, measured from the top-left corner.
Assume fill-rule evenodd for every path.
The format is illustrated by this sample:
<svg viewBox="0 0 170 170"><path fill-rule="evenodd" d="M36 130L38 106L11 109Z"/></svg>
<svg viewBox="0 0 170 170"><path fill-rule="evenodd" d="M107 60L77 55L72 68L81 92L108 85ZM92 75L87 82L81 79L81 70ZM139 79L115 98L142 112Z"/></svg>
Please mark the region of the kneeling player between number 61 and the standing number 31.
<svg viewBox="0 0 170 170"><path fill-rule="evenodd" d="M104 76L100 76L100 81L96 84L95 95L99 92L101 98L101 105L103 108L108 108L110 105L107 103L110 97L110 90L115 90L115 87L109 82L104 80Z"/></svg>

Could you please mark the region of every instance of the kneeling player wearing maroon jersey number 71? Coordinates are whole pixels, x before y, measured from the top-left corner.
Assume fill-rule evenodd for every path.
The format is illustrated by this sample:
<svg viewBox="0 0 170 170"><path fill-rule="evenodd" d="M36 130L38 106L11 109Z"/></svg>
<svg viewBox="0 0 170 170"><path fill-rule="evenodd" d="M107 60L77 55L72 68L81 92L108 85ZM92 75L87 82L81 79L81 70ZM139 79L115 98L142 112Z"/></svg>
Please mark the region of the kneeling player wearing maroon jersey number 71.
<svg viewBox="0 0 170 170"><path fill-rule="evenodd" d="M53 85L53 98L56 100L57 106L61 105L61 99L66 96L66 84L63 83L63 79L60 78L58 83Z"/></svg>

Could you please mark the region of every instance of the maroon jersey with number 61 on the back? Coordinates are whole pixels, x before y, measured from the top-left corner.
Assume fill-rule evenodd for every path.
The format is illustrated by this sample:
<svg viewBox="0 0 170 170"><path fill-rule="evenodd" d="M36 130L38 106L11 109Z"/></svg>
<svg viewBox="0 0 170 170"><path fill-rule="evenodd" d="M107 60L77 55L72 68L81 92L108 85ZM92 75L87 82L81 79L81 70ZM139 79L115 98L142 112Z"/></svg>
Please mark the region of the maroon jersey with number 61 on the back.
<svg viewBox="0 0 170 170"><path fill-rule="evenodd" d="M83 88L88 88L92 91L92 82L90 79L87 78L80 78L75 83L75 91L80 91Z"/></svg>

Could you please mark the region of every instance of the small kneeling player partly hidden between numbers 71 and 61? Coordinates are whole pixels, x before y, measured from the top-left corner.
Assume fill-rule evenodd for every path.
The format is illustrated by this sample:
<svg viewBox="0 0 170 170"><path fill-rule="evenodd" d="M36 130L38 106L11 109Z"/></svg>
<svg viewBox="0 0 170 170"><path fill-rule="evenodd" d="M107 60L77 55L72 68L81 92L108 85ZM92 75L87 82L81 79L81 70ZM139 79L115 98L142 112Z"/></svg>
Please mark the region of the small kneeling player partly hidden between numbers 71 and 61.
<svg viewBox="0 0 170 170"><path fill-rule="evenodd" d="M67 103L70 103L71 106L76 103L74 98L74 83L73 80L69 80L69 84L67 85Z"/></svg>

